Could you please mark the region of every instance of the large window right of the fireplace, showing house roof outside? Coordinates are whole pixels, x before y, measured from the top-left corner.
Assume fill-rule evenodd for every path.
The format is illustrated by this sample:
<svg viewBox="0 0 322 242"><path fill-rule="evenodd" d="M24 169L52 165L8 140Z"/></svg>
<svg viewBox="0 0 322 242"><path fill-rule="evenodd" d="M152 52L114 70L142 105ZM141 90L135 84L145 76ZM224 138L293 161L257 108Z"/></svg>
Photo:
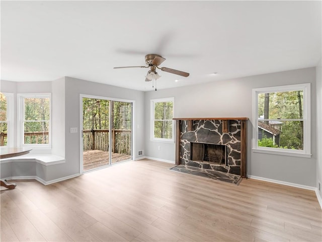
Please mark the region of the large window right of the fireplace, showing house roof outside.
<svg viewBox="0 0 322 242"><path fill-rule="evenodd" d="M253 89L253 151L310 157L310 84Z"/></svg>

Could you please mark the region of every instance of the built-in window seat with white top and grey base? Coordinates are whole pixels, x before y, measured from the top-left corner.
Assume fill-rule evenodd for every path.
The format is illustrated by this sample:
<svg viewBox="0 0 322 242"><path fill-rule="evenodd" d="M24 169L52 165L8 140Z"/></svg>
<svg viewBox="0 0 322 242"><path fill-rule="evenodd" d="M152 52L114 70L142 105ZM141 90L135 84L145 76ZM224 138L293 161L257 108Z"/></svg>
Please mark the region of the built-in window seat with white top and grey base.
<svg viewBox="0 0 322 242"><path fill-rule="evenodd" d="M0 159L1 179L36 179L44 185L56 180L48 180L47 172L52 165L65 163L65 158L51 154L26 154Z"/></svg>

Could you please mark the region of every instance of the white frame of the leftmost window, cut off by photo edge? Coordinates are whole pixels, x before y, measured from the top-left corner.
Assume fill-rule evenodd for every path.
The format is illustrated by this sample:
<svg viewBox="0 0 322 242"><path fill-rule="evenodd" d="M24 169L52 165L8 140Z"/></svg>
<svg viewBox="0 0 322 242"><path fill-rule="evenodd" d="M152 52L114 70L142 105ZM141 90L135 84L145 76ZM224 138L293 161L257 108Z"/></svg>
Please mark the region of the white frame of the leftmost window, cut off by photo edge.
<svg viewBox="0 0 322 242"><path fill-rule="evenodd" d="M14 94L2 92L7 99L7 145L1 147L14 147Z"/></svg>

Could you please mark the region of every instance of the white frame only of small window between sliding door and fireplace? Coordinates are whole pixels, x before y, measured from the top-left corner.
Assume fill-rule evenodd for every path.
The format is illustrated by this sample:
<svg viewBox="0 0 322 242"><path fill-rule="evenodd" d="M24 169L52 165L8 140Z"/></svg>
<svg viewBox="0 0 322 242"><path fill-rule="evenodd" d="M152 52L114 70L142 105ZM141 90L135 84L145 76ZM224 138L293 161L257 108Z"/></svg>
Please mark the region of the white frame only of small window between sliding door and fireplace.
<svg viewBox="0 0 322 242"><path fill-rule="evenodd" d="M173 102L173 117L175 117L175 98L174 97L167 97L167 98L158 98L158 99L151 99L150 101L150 139L151 141L158 141L158 142L167 142L167 143L174 143L175 142L175 122L173 119L172 121L172 139L165 139L165 138L155 138L154 137L154 121L158 119L154 119L154 105L158 102ZM163 119L163 120L170 120L170 119Z"/></svg>

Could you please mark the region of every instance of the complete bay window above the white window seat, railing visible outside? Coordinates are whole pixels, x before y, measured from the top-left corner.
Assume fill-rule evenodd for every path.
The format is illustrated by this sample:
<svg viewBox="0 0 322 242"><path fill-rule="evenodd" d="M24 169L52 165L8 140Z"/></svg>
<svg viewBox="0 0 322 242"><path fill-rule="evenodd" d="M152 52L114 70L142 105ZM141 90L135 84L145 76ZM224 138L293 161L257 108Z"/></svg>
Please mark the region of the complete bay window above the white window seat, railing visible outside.
<svg viewBox="0 0 322 242"><path fill-rule="evenodd" d="M20 101L20 142L22 145L50 145L51 95L18 94Z"/></svg>

